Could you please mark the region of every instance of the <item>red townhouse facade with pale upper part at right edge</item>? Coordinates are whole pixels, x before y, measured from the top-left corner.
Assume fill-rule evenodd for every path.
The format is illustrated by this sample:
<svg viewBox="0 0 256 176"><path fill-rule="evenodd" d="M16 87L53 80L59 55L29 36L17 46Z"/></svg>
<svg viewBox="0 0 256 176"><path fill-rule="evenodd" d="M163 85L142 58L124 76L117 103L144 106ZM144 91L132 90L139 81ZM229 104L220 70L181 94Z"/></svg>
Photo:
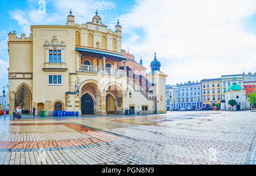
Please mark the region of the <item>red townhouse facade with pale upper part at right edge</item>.
<svg viewBox="0 0 256 176"><path fill-rule="evenodd" d="M256 92L256 72L243 73L243 90L246 90L246 95Z"/></svg>

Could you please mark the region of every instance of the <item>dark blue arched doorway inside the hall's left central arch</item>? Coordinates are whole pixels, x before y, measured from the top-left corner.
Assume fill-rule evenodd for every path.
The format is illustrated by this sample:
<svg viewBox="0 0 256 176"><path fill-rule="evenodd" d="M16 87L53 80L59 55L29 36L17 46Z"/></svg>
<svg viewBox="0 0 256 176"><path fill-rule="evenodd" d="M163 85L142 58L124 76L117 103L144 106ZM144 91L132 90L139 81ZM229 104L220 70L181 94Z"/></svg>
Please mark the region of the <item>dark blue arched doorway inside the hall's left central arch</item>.
<svg viewBox="0 0 256 176"><path fill-rule="evenodd" d="M93 106L94 106L94 103L93 103L92 97L90 97L89 94L82 95L81 97L82 115L94 114Z"/></svg>

